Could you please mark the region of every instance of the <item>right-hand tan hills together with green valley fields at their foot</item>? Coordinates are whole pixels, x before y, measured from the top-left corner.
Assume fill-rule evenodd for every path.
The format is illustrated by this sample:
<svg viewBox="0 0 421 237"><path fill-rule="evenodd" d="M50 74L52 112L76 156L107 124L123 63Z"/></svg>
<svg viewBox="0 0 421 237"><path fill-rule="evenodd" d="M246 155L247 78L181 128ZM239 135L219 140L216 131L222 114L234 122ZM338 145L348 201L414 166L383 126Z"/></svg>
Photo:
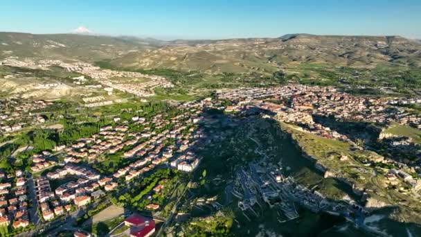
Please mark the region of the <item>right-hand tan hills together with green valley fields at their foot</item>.
<svg viewBox="0 0 421 237"><path fill-rule="evenodd" d="M391 87L405 94L418 93L412 90L420 89L420 65L421 44L415 40L399 36L305 34L177 41L107 61L111 68L171 69L213 78L204 79L201 87L203 84L204 87L219 87L222 83L290 82L352 88ZM236 78L247 79L239 81ZM186 81L193 80L187 77Z"/></svg>

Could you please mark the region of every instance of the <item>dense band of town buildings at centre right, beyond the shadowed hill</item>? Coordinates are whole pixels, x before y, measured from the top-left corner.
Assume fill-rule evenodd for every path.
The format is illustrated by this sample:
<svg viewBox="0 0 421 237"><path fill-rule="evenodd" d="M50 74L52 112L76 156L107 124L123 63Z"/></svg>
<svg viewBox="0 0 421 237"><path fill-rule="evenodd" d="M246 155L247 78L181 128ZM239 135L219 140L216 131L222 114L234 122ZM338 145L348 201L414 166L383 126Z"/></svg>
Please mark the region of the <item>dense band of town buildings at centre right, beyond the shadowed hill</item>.
<svg viewBox="0 0 421 237"><path fill-rule="evenodd" d="M388 105L419 103L420 99L386 100L350 96L338 92L334 87L317 87L305 85L288 85L271 88L244 88L223 91L219 98L229 99L235 105L227 107L227 111L239 110L240 105L247 105L251 100L273 98L285 100L285 107L294 109L294 112L334 116L337 119L352 121L370 121L386 123L395 121L402 125L411 125L421 128L421 116L406 112L405 109L394 107L397 112L390 112ZM288 112L292 112L289 110ZM290 119L294 115L291 115ZM306 119L305 117L303 117ZM300 118L295 118L300 119Z"/></svg>

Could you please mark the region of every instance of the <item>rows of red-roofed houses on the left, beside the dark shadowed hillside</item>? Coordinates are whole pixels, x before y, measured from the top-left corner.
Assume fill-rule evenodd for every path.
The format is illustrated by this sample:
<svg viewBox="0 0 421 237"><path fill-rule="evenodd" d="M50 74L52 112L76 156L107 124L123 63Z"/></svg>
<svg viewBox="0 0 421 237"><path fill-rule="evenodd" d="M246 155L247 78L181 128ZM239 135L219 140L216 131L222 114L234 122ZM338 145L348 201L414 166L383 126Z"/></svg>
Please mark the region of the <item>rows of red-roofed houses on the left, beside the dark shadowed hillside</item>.
<svg viewBox="0 0 421 237"><path fill-rule="evenodd" d="M42 218L45 221L54 220L69 213L74 207L82 207L92 200L97 200L105 195L106 191L113 191L122 180L129 182L161 164L164 166L171 164L173 168L185 172L194 170L200 159L190 148L197 143L197 139L203 137L203 130L197 130L192 125L199 121L198 106L201 104L181 105L181 109L185 109L186 113L169 119L164 119L162 115L155 116L151 121L145 121L138 116L134 116L130 122L116 119L116 123L120 125L105 126L98 134L93 134L89 138L80 139L69 146L57 147L55 150L60 150L65 154L65 165L60 164L62 167L55 168L45 176L35 179L35 195ZM128 132L127 123L141 125L144 129L142 132ZM175 143L167 143L168 139L175 139ZM79 164L82 160L96 159L98 155L106 157L108 154L115 154L126 146L131 149L121 152L121 156L125 159L136 159L109 177L101 177L95 170ZM51 152L47 151L33 155L31 170L39 172L45 168L51 168L56 165L51 159ZM68 177L74 177L74 180L52 190L51 180ZM21 186L24 183L19 177L17 185ZM0 192L7 194L10 186L11 184L1 184ZM163 187L164 184L160 182L154 188L154 192L159 193ZM14 191L16 195L19 195L18 200L24 202L25 199L20 198L20 195L24 195L26 189L15 188ZM159 205L148 204L146 208L156 210L159 209ZM17 223L24 220L26 219L19 218Z"/></svg>

